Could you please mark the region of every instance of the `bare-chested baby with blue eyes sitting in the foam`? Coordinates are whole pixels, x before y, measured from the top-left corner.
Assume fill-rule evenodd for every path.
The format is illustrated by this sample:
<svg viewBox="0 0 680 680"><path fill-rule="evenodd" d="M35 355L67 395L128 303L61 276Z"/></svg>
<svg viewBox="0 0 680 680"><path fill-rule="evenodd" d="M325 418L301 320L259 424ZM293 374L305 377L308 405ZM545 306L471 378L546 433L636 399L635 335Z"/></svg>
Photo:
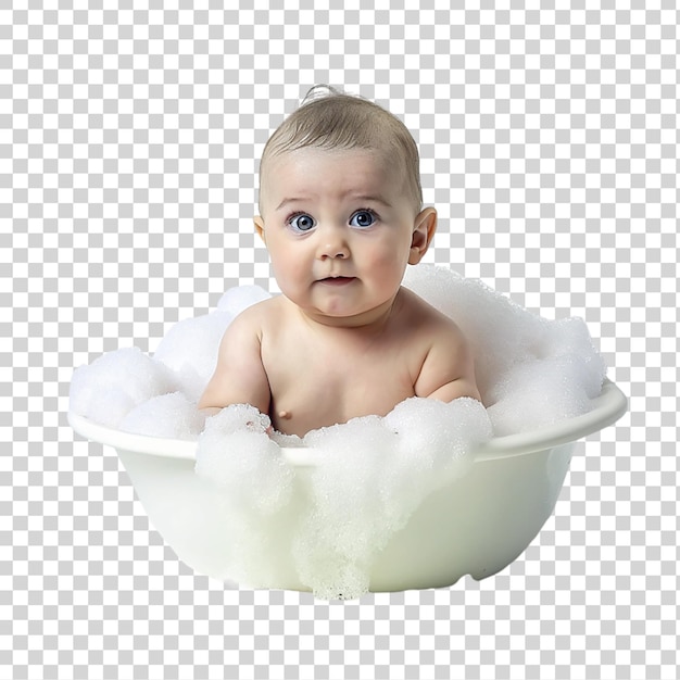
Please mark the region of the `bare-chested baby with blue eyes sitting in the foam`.
<svg viewBox="0 0 680 680"><path fill-rule="evenodd" d="M479 399L458 327L401 286L437 227L413 137L364 99L308 99L260 167L255 229L282 294L227 328L199 407L248 403L304 436L410 396Z"/></svg>

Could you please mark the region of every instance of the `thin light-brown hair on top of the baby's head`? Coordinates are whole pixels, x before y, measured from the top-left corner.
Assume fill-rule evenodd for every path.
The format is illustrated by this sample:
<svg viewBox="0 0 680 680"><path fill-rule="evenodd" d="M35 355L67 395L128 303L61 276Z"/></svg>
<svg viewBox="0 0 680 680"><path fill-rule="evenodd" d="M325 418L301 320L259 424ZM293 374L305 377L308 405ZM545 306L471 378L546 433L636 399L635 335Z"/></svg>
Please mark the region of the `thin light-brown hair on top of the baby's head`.
<svg viewBox="0 0 680 680"><path fill-rule="evenodd" d="M302 104L274 131L260 162L304 148L383 151L402 165L416 212L423 206L418 147L406 126L378 104L328 86L313 87Z"/></svg>

